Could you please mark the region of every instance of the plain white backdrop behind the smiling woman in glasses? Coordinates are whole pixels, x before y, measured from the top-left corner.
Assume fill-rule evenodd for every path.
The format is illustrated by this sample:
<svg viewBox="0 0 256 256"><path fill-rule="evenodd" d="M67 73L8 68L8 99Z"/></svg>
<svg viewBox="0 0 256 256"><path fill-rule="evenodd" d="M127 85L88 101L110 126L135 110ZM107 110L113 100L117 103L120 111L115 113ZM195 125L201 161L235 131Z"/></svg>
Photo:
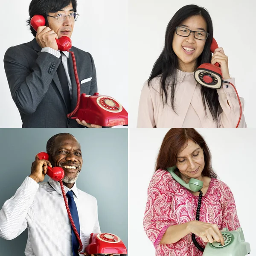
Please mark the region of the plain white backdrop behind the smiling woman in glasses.
<svg viewBox="0 0 256 256"><path fill-rule="evenodd" d="M254 0L129 0L129 127L137 127L140 91L164 46L166 26L182 6L205 7L213 22L213 36L229 58L230 76L235 77L244 98L248 128L256 127L256 31Z"/></svg>

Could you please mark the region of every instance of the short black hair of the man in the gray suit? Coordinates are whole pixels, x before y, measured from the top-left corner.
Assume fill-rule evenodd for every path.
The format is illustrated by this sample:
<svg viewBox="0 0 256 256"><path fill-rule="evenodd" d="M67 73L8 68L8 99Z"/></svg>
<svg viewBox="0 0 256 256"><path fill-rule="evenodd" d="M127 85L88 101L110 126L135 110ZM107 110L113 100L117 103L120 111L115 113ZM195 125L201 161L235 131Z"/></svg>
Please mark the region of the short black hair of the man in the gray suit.
<svg viewBox="0 0 256 256"><path fill-rule="evenodd" d="M76 12L76 0L32 0L29 4L29 19L26 20L30 26L31 33L36 36L35 29L30 25L30 20L34 15L43 15L45 18L45 26L48 26L47 14L49 12L58 12L72 3L74 12Z"/></svg>

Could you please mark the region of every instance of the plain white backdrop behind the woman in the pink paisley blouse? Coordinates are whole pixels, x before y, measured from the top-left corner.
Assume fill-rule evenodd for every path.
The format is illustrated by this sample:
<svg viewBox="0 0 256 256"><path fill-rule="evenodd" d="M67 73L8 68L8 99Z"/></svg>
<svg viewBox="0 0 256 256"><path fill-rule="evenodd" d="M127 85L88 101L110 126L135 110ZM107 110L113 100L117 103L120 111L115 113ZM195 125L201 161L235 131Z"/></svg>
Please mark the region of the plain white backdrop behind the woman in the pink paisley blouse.
<svg viewBox="0 0 256 256"><path fill-rule="evenodd" d="M212 153L212 167L233 192L250 256L255 244L255 129L196 129ZM147 188L155 161L169 129L129 129L129 254L154 256L155 250L143 230Z"/></svg>

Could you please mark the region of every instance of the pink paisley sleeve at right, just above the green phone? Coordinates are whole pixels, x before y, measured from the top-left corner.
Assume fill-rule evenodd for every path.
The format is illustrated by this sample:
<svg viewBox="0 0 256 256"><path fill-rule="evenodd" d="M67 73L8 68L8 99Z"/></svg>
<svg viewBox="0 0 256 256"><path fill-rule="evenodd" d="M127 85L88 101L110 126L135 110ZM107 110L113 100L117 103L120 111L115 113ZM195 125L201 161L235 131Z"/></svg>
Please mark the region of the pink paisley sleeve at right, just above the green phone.
<svg viewBox="0 0 256 256"><path fill-rule="evenodd" d="M228 230L236 230L240 227L240 223L236 212L233 193L224 182L221 182L220 188L220 202L222 209L221 229L227 227Z"/></svg>

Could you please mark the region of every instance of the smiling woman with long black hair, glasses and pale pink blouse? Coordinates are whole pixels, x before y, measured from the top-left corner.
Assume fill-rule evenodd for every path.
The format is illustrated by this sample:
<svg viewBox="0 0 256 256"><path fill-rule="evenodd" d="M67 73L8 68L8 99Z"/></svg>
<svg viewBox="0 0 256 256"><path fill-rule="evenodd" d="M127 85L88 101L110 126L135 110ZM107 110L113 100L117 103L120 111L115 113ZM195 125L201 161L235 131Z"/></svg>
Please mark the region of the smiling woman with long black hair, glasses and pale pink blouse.
<svg viewBox="0 0 256 256"><path fill-rule="evenodd" d="M162 53L154 64L140 96L138 128L233 128L239 122L244 99L223 82L220 89L201 86L194 71L203 63L220 64L222 79L230 78L222 48L211 56L212 20L206 9L187 5L170 20ZM241 109L241 110L240 110ZM239 128L246 128L241 115Z"/></svg>

